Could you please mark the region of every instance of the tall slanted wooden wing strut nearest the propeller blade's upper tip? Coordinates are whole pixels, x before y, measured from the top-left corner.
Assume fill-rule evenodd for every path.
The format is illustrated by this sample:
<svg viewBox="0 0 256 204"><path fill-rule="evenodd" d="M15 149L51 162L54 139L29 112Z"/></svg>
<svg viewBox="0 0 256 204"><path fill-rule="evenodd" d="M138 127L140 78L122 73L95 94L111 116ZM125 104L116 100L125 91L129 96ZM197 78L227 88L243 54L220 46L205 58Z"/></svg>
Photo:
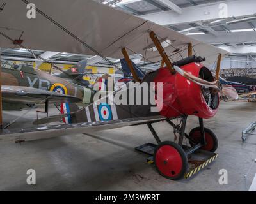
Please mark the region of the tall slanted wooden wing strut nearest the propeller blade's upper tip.
<svg viewBox="0 0 256 204"><path fill-rule="evenodd" d="M150 31L149 36L150 36L151 40L153 41L153 43L155 44L159 54L163 58L163 61L166 64L167 68L170 70L170 72L172 74L175 74L175 69L173 69L172 62L170 61L168 55L164 51L164 48L162 47L162 45L161 45L160 41L158 40L154 31Z"/></svg>

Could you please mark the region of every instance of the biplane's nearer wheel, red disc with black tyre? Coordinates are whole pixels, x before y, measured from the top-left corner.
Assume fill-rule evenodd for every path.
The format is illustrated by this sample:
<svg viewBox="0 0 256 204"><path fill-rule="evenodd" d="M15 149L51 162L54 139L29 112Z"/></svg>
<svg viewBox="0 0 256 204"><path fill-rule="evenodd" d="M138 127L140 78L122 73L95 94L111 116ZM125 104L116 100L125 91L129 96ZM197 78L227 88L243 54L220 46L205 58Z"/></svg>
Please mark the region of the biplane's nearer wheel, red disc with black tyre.
<svg viewBox="0 0 256 204"><path fill-rule="evenodd" d="M164 141L159 143L154 151L154 164L160 175L167 179L178 180L186 173L188 157L180 145Z"/></svg>

